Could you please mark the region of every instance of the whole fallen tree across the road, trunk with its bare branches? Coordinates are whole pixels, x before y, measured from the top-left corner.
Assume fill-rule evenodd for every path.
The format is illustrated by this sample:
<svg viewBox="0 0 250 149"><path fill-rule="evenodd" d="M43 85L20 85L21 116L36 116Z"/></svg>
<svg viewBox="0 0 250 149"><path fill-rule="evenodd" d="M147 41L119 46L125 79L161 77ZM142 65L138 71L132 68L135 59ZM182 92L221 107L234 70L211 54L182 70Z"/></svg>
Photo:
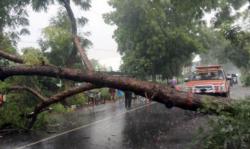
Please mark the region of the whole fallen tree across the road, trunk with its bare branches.
<svg viewBox="0 0 250 149"><path fill-rule="evenodd" d="M25 87L20 87L20 86L16 88L13 87L13 89L15 90L22 89L29 91L41 99L41 102L35 107L34 112L28 115L28 117L31 118L29 128L33 126L34 122L37 119L37 115L43 112L43 110L48 106L60 102L65 98L73 96L75 94L101 87L109 87L124 91L132 91L137 95L165 104L166 107L168 108L175 106L182 109L193 110L193 111L196 111L199 108L207 108L209 111L213 113L217 113L218 109L224 111L233 110L230 106L230 102L225 98L192 95L186 92L178 92L172 89L171 87L158 83L146 82L128 77L112 76L112 75L107 75L105 73L94 72L93 66L91 65L86 55L85 49L80 45L79 37L77 35L76 18L70 7L69 3L70 1L63 0L62 2L68 13L69 19L71 20L72 43L75 46L75 50L77 50L81 55L81 59L86 67L85 71L81 71L78 69L61 68L51 65L26 66L22 58L4 53L2 50L0 50L0 57L22 64L18 66L0 67L0 80L2 81L12 76L22 75L22 76L47 76L47 77L72 80L76 82L88 82L79 87L72 87L69 90L65 90L51 97L44 97L37 91L30 90ZM74 51L73 57L75 53L76 52Z"/></svg>

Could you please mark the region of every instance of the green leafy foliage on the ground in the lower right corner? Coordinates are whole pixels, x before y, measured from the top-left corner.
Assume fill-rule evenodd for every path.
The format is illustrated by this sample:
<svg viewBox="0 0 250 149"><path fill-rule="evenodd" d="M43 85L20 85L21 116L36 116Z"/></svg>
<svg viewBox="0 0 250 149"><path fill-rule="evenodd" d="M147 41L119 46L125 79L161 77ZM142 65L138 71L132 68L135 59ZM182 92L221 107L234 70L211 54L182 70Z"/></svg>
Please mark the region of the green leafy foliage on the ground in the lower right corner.
<svg viewBox="0 0 250 149"><path fill-rule="evenodd" d="M234 112L221 112L211 117L209 132L203 140L203 148L207 149L244 149L250 147L250 98L237 101L233 105Z"/></svg>

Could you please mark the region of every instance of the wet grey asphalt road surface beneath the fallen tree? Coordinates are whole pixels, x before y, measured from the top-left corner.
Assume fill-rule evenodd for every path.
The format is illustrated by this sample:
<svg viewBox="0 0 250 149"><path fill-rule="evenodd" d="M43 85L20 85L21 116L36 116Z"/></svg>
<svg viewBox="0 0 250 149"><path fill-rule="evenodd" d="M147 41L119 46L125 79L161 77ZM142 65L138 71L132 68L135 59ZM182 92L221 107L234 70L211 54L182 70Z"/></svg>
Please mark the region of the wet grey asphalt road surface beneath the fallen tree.
<svg viewBox="0 0 250 149"><path fill-rule="evenodd" d="M247 96L249 88L234 87L231 96ZM129 110L123 102L86 108L65 116L57 133L18 134L0 139L0 149L186 149L207 117L158 103L140 101Z"/></svg>

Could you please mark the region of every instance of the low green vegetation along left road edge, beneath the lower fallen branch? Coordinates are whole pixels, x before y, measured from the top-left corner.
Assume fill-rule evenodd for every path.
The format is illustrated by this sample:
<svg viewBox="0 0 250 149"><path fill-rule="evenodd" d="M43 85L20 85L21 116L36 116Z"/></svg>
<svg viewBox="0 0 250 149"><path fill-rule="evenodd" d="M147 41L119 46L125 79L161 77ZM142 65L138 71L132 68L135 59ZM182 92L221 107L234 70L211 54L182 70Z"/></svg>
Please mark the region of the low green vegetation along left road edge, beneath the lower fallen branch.
<svg viewBox="0 0 250 149"><path fill-rule="evenodd" d="M104 101L111 99L107 88L95 90L94 92L96 94L100 92L101 96L100 101L97 100L96 104L103 104ZM21 97L22 99L20 100ZM6 101L0 108L0 129L16 128L20 131L25 130L29 123L26 116L33 111L31 107L35 106L39 101L35 100L33 96L25 96L25 94L10 94L6 98L11 100ZM33 103L31 103L30 100L33 100ZM60 117L60 115L63 116L63 114L93 105L91 101L90 104L91 105L88 103L88 95L83 93L68 98L62 103L54 104L39 115L34 129L44 130L49 125L60 123L56 120L55 115Z"/></svg>

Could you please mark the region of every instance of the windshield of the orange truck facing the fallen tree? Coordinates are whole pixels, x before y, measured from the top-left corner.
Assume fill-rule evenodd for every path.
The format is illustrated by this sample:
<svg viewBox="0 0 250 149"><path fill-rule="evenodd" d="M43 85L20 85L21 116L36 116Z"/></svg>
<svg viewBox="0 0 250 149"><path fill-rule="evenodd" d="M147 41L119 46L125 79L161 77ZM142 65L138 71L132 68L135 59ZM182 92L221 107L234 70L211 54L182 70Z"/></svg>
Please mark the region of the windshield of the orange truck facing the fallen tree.
<svg viewBox="0 0 250 149"><path fill-rule="evenodd" d="M191 80L224 80L225 77L221 70L212 72L195 72Z"/></svg>

